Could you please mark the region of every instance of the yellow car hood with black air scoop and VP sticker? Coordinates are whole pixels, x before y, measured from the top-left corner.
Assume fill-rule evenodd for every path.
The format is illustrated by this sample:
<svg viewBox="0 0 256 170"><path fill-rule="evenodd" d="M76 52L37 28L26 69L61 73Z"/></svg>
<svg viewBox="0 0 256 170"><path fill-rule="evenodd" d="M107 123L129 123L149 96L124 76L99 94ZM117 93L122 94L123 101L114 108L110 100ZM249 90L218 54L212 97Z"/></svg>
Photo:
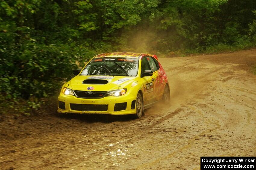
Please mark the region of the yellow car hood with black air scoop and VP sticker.
<svg viewBox="0 0 256 170"><path fill-rule="evenodd" d="M125 88L136 77L126 76L75 76L65 85L67 88L81 91L110 91Z"/></svg>

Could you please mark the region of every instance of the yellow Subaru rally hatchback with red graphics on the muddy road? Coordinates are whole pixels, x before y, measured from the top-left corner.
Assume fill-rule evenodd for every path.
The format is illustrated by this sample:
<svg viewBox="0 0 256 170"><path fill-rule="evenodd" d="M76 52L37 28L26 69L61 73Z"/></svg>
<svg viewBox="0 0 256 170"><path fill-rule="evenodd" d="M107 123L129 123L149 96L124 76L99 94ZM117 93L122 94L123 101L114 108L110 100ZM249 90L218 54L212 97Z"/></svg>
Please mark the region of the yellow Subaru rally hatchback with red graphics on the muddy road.
<svg viewBox="0 0 256 170"><path fill-rule="evenodd" d="M66 82L59 113L135 114L159 100L170 100L166 73L156 55L116 52L93 57Z"/></svg>

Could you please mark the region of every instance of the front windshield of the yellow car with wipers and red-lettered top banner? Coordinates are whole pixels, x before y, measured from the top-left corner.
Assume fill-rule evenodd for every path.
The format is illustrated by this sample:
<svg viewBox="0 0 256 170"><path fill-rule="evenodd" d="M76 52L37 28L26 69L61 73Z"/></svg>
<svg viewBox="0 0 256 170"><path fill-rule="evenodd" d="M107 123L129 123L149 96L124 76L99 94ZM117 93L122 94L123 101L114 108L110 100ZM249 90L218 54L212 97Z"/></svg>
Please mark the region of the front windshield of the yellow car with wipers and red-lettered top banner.
<svg viewBox="0 0 256 170"><path fill-rule="evenodd" d="M137 58L94 58L83 69L81 75L137 76Z"/></svg>

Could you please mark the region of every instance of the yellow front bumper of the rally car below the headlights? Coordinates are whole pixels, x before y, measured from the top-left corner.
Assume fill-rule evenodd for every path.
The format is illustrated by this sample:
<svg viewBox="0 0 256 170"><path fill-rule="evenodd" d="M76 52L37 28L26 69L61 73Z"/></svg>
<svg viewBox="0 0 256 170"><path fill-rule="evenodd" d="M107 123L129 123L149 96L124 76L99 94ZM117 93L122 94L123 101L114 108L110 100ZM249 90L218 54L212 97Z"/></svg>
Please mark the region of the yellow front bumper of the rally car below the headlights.
<svg viewBox="0 0 256 170"><path fill-rule="evenodd" d="M97 113L97 114L111 114L111 115L128 115L136 114L135 108L136 96L126 93L123 96L103 97L101 99L84 99L72 95L60 94L58 97L59 113ZM123 103L123 104L117 104ZM126 109L124 104L126 103ZM115 105L116 104L116 105ZM120 110L120 106L123 110ZM116 106L116 107L115 107ZM62 108L62 109L61 109ZM88 111L91 110L91 111ZM103 111L102 111L103 110ZM119 110L119 111L115 111Z"/></svg>

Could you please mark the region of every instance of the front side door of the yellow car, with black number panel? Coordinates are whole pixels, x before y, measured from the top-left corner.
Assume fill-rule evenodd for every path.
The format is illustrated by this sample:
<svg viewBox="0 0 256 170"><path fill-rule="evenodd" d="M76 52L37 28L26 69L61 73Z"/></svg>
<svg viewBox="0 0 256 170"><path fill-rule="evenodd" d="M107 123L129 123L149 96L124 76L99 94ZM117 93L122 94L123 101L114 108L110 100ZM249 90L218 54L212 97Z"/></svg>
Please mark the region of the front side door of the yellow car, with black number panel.
<svg viewBox="0 0 256 170"><path fill-rule="evenodd" d="M143 85L143 100L144 106L153 102L154 98L154 86L153 86L153 75L152 76L143 76L145 70L151 70L148 60L146 57L143 57L141 60L141 81Z"/></svg>

